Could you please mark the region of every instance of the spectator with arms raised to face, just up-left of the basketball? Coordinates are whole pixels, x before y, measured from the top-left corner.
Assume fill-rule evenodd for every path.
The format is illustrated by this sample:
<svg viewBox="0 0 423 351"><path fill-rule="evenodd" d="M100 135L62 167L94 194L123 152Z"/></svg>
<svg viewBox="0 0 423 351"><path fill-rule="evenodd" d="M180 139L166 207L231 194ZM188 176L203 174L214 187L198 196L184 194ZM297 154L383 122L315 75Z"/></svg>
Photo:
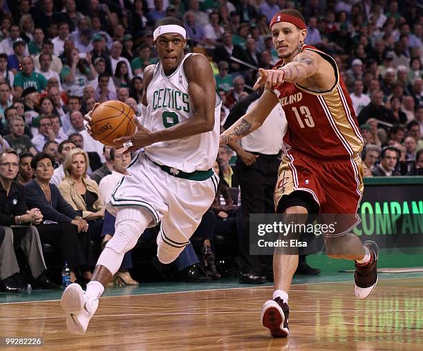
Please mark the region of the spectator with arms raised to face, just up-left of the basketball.
<svg viewBox="0 0 423 351"><path fill-rule="evenodd" d="M62 85L69 95L82 97L84 95L84 86L97 76L94 66L91 62L91 54L86 53L86 57L79 55L78 49L73 49L66 57L66 65L60 72Z"/></svg>

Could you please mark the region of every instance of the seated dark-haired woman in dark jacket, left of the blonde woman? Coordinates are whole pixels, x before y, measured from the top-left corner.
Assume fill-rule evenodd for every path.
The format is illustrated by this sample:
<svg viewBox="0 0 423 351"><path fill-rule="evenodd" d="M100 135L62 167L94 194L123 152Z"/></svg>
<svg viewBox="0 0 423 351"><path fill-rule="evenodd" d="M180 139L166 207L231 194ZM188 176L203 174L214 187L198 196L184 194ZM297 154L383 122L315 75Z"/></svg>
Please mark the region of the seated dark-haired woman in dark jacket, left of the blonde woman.
<svg viewBox="0 0 423 351"><path fill-rule="evenodd" d="M67 261L71 267L71 281L77 280L79 270L85 278L91 272L86 267L88 252L88 223L78 216L71 205L64 200L54 184L54 160L46 153L38 153L31 160L35 179L25 184L28 207L37 207L43 214L44 223L37 226L41 243L57 248L61 263Z"/></svg>

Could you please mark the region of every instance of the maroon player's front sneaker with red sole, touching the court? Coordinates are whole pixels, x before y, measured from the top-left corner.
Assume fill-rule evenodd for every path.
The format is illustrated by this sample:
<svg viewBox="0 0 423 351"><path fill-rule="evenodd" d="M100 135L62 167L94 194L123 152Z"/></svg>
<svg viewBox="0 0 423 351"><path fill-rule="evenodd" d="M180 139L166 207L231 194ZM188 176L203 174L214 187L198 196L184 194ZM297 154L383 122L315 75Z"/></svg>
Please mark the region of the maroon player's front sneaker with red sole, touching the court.
<svg viewBox="0 0 423 351"><path fill-rule="evenodd" d="M270 330L274 338L285 338L290 334L288 328L288 316L290 307L280 297L268 300L261 310L261 324Z"/></svg>

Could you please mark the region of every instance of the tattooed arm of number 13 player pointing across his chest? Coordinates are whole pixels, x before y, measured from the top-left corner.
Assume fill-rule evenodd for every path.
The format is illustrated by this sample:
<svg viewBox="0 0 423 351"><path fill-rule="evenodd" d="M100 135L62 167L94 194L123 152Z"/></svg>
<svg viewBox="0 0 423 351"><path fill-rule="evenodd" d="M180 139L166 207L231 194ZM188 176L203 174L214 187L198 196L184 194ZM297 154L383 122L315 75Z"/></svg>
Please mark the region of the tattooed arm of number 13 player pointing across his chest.
<svg viewBox="0 0 423 351"><path fill-rule="evenodd" d="M299 53L294 60L285 66L276 70L263 70L259 69L260 77L254 84L254 89L265 85L266 88L274 88L282 82L294 83L301 79L313 77L319 73L321 68L321 57L314 51L304 50ZM329 70L329 73L332 73Z"/></svg>

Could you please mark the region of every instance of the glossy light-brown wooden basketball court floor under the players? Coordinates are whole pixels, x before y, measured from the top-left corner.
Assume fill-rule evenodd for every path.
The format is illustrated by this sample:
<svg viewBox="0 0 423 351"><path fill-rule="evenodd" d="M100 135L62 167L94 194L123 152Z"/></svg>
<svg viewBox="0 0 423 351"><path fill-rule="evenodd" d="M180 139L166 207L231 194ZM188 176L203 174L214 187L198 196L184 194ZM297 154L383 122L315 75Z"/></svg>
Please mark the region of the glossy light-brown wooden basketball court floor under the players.
<svg viewBox="0 0 423 351"><path fill-rule="evenodd" d="M43 350L422 350L422 292L422 276L382 278L364 301L352 281L293 285L288 339L260 325L270 286L104 297L84 336L57 300L3 303L0 336L42 336Z"/></svg>

